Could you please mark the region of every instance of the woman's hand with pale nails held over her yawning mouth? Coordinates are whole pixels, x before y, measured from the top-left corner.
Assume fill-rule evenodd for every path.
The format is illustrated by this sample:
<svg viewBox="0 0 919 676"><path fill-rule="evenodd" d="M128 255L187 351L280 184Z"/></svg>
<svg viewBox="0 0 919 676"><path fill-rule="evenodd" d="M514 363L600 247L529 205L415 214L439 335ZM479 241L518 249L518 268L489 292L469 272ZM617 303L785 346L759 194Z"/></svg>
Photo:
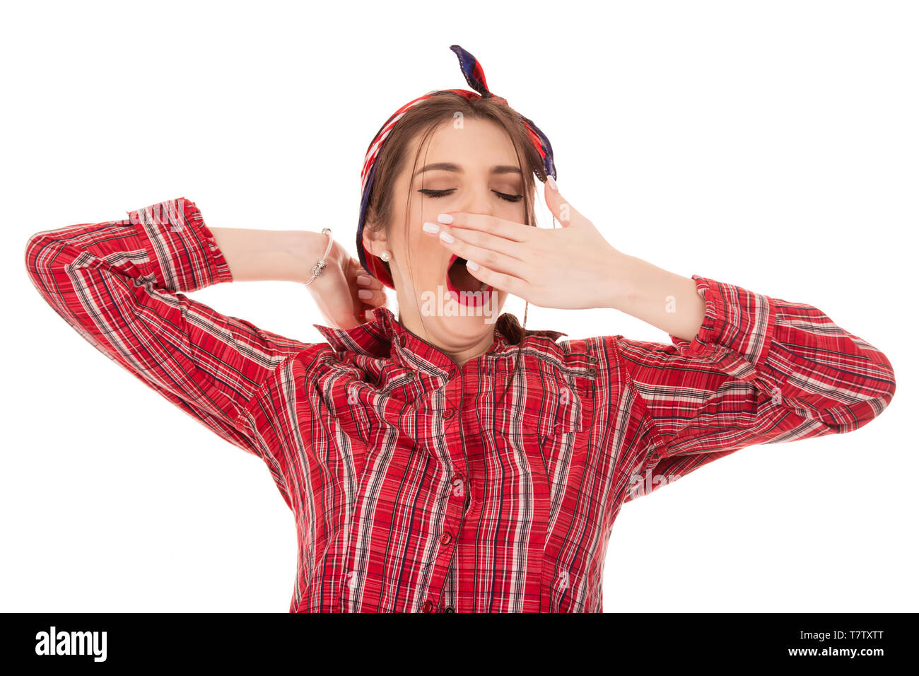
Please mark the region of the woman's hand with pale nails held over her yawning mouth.
<svg viewBox="0 0 919 676"><path fill-rule="evenodd" d="M440 243L478 265L470 274L495 289L540 307L610 307L618 292L618 263L626 258L610 246L594 223L545 186L546 203L561 228L537 228L478 213L447 212ZM452 235L446 242L441 234Z"/></svg>

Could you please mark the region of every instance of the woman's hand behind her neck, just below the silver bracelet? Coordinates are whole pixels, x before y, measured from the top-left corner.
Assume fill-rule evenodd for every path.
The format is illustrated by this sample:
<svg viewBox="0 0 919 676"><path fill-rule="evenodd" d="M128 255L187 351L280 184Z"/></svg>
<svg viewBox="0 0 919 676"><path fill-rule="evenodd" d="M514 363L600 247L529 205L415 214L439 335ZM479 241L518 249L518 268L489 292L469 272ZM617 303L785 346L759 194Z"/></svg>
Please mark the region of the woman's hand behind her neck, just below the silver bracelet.
<svg viewBox="0 0 919 676"><path fill-rule="evenodd" d="M325 246L328 246L326 235L321 238L319 249L309 266L308 274L312 277L312 265L322 257ZM325 258L326 267L323 274L314 279L306 288L323 313L326 326L335 328L354 328L366 323L370 312L375 307L386 305L386 293L383 284L361 267L360 261L353 258L344 246L333 240L332 249ZM360 284L358 276L369 278L369 283ZM369 291L370 298L361 298L358 292Z"/></svg>

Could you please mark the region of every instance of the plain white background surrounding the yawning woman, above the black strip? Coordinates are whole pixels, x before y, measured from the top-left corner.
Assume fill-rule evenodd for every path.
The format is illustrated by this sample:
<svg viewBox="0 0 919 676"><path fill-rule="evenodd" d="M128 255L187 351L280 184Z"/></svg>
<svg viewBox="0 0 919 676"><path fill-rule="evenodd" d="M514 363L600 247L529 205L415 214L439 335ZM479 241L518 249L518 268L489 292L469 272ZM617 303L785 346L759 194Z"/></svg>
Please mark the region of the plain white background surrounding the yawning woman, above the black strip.
<svg viewBox="0 0 919 676"><path fill-rule="evenodd" d="M0 610L288 611L295 526L267 467L64 324L26 241L187 197L212 227L329 225L356 253L367 145L408 100L467 87L454 43L613 246L815 305L896 372L862 430L747 448L625 506L606 611L917 610L915 7L5 4ZM321 339L297 284L194 297ZM531 305L528 327L669 342L612 309Z"/></svg>

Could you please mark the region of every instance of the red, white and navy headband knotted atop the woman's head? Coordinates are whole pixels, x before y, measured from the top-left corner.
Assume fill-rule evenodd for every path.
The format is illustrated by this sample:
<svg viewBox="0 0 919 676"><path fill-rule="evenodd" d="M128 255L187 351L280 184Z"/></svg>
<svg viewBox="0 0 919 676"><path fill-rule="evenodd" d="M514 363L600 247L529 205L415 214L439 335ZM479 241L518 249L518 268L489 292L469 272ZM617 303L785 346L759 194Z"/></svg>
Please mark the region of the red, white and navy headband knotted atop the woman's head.
<svg viewBox="0 0 919 676"><path fill-rule="evenodd" d="M395 127L396 122L402 119L403 115L408 109L414 108L425 98L436 97L441 94L457 94L460 97L466 98L468 100L475 100L477 98L494 98L494 100L501 103L507 104L507 99L502 97L495 97L491 91L488 89L488 85L485 82L485 73L482 71L482 64L471 55L471 53L464 50L459 45L450 45L450 49L456 53L459 58L459 68L462 70L463 76L466 78L466 82L469 83L474 92L468 91L466 89L441 89L439 91L430 92L424 96L417 97L412 101L406 103L402 108L396 110L392 113L389 120L386 120L386 123L380 127L380 131L377 132L377 135L373 138L373 141L370 143L367 149L367 155L364 157L364 166L360 172L360 216L357 221L357 255L360 257L360 264L364 266L364 269L367 269L370 274L376 277L378 280L383 282L386 286L391 289L395 289L395 286L392 284L392 278L389 272L386 271L386 267L383 265L382 260L379 257L371 254L364 247L364 221L367 218L367 205L370 199L370 189L373 187L373 178L376 174L376 164L377 158L380 156L380 150L383 147L383 143L386 142L387 137L392 132L393 127ZM518 113L519 115L519 113ZM527 128L527 134L529 136L530 143L533 143L533 146L539 152L539 156L542 158L543 168L545 169L546 176L556 178L555 173L555 162L552 159L552 145L549 143L549 139L546 138L546 135L539 131L537 127L531 120L520 115L520 120L523 121L524 126Z"/></svg>

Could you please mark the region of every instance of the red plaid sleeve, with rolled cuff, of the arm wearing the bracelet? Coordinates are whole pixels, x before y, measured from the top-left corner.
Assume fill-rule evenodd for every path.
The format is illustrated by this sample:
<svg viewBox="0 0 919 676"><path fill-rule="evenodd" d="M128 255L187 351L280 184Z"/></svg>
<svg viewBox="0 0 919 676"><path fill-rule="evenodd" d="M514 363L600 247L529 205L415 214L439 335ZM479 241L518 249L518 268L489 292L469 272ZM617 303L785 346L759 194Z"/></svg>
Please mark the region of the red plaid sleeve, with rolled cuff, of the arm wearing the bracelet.
<svg viewBox="0 0 919 676"><path fill-rule="evenodd" d="M185 295L233 281L194 202L177 198L121 221L37 233L28 239L26 268L44 300L96 349L265 459L239 418L278 365L310 345Z"/></svg>

